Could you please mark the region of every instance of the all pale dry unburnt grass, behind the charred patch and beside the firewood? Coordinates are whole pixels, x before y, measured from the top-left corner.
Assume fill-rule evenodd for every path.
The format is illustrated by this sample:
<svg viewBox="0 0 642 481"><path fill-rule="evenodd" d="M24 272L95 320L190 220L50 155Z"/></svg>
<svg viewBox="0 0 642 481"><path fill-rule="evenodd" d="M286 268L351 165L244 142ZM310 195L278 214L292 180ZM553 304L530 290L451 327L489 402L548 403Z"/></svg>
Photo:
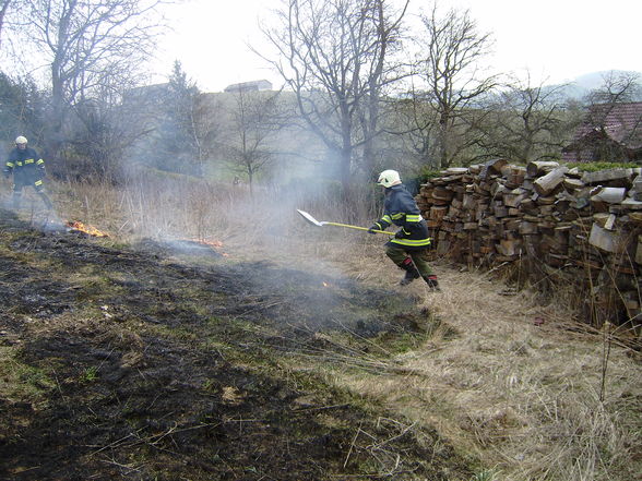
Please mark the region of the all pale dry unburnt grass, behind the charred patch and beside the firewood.
<svg viewBox="0 0 642 481"><path fill-rule="evenodd" d="M299 207L320 220L352 220L354 213L329 200L314 206L269 191L251 200L243 190L181 179L139 179L126 191L55 190L61 217L81 216L124 239L217 239L236 257L402 289L402 272L383 254L384 237L310 227L296 214ZM534 292L513 294L492 274L443 263L436 270L443 292L430 293L421 281L405 289L443 327L399 356L394 372L352 370L335 382L436 428L483 459L484 479L635 479L642 471L639 353L609 344L608 333L569 330L579 303L572 292L543 304Z"/></svg>

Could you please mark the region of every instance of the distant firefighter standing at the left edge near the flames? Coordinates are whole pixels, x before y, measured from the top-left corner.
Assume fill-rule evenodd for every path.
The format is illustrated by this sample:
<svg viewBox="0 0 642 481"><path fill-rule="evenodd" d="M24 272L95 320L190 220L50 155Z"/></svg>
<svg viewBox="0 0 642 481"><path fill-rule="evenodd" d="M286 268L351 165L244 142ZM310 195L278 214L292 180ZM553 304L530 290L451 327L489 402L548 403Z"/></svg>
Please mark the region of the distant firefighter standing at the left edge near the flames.
<svg viewBox="0 0 642 481"><path fill-rule="evenodd" d="M15 148L9 153L3 173L8 179L13 173L13 208L20 207L22 189L26 185L35 189L47 208L54 207L43 187L45 160L35 149L27 147L27 140L22 135L15 140Z"/></svg>

